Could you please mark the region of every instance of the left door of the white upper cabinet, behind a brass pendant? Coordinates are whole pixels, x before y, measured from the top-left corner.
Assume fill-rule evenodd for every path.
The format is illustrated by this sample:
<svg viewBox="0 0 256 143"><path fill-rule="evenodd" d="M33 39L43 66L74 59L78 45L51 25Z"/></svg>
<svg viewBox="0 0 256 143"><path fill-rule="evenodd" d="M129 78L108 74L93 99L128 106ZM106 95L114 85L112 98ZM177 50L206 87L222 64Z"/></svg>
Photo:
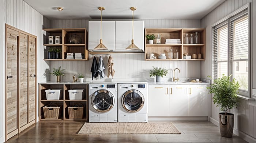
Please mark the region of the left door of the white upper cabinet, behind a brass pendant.
<svg viewBox="0 0 256 143"><path fill-rule="evenodd" d="M89 21L89 49L94 49L101 39L101 21ZM102 21L102 43L115 48L115 21Z"/></svg>

